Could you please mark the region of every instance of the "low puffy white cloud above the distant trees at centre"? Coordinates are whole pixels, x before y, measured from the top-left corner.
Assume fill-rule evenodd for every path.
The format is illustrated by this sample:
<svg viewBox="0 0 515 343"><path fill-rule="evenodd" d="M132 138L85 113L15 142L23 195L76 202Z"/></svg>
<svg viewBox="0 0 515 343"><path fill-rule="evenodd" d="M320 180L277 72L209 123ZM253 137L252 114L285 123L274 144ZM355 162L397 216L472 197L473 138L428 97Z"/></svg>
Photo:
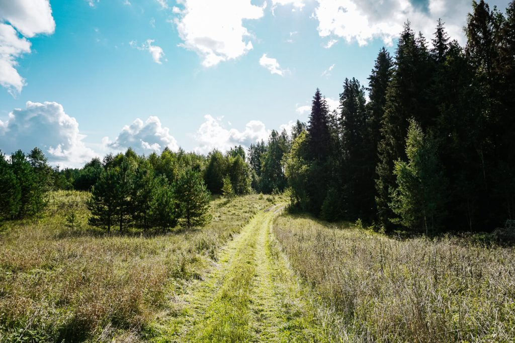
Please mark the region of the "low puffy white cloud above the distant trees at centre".
<svg viewBox="0 0 515 343"><path fill-rule="evenodd" d="M265 124L259 120L249 121L245 125L245 129L239 131L226 129L222 123L222 118L213 118L208 114L204 116L204 119L204 122L194 134L198 143L195 151L199 153L208 153L213 149L225 151L238 145L248 147L261 139L268 139L270 135L270 131L266 130Z"/></svg>

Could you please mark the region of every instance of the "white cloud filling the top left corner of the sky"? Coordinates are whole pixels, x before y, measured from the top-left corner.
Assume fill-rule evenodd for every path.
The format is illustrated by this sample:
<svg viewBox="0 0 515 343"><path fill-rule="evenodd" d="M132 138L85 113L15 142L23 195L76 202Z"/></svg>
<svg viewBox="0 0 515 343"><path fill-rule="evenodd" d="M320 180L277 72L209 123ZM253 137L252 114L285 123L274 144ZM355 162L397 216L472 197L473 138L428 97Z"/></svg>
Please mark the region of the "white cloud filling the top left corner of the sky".
<svg viewBox="0 0 515 343"><path fill-rule="evenodd" d="M26 84L16 66L30 52L27 38L51 34L55 27L48 0L0 1L0 85L11 95L19 94Z"/></svg>

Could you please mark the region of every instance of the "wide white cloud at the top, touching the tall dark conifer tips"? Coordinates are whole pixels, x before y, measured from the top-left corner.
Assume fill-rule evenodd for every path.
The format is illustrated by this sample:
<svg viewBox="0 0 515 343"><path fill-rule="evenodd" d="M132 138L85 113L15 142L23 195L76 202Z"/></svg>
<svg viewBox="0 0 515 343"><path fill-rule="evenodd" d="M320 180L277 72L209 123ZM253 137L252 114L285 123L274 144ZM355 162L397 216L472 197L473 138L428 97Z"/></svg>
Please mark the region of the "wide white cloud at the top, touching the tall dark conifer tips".
<svg viewBox="0 0 515 343"><path fill-rule="evenodd" d="M366 45L374 38L391 45L409 20L413 29L431 37L441 18L452 38L465 42L462 27L470 10L469 0L428 0L416 6L409 0L317 0L314 17L320 37L341 37L348 43ZM329 41L329 43L331 43ZM325 45L330 47L332 44Z"/></svg>

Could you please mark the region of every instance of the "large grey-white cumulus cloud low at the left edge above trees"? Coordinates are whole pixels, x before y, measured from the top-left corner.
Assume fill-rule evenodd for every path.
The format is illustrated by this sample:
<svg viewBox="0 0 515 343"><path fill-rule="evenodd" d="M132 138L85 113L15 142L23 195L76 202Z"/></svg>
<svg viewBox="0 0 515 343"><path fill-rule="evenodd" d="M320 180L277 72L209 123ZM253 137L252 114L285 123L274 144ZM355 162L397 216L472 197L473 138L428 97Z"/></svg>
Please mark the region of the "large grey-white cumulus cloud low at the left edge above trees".
<svg viewBox="0 0 515 343"><path fill-rule="evenodd" d="M68 116L57 102L26 103L25 109L9 113L7 121L0 120L0 149L10 154L39 147L50 163L79 166L95 156L86 147L75 118Z"/></svg>

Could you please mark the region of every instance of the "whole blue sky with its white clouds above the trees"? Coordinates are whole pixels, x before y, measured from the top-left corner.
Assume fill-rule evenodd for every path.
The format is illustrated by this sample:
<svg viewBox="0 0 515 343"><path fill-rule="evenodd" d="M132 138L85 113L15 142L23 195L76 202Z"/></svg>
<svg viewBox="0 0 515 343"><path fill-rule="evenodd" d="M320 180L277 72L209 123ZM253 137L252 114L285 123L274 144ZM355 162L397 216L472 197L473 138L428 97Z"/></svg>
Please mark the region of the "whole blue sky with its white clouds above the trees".
<svg viewBox="0 0 515 343"><path fill-rule="evenodd" d="M504 11L508 0L488 1ZM367 86L403 23L465 44L469 0L0 0L0 150L80 167L132 147L208 153Z"/></svg>

